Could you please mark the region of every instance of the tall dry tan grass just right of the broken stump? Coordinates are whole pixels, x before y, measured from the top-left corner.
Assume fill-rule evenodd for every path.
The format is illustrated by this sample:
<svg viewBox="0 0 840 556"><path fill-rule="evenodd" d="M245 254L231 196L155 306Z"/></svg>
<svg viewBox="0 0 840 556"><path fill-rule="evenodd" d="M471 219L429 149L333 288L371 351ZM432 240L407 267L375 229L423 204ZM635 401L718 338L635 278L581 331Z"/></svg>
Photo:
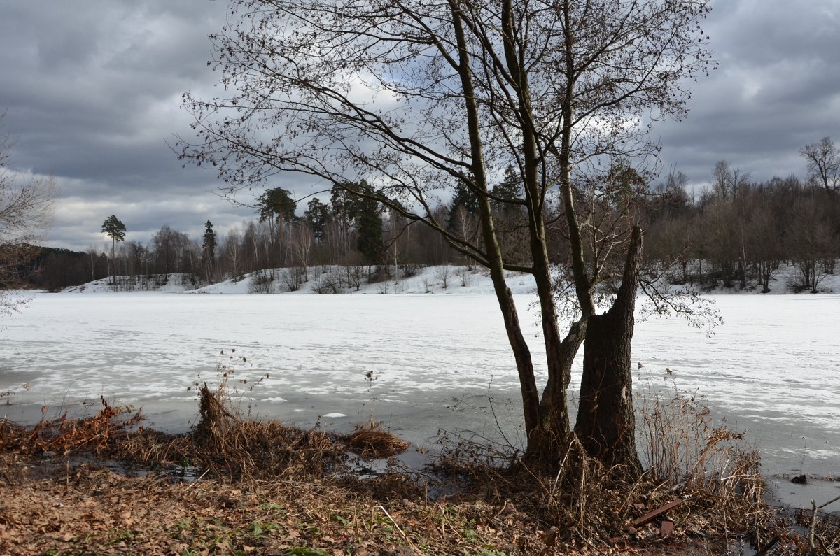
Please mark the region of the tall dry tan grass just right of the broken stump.
<svg viewBox="0 0 840 556"><path fill-rule="evenodd" d="M801 538L765 501L760 454L746 443L746 430L716 423L696 395L668 378L664 391L641 380L638 444L658 490L691 501L675 512L685 534L743 538L756 550L773 542L780 553L797 553Z"/></svg>

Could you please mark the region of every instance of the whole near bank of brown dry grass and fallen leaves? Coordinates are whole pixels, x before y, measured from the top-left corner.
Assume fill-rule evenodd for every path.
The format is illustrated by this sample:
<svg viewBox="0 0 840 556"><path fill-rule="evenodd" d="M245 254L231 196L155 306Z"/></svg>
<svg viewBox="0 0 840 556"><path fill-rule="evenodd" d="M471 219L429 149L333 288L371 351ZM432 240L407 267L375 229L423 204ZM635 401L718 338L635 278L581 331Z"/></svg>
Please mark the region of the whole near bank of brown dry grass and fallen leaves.
<svg viewBox="0 0 840 556"><path fill-rule="evenodd" d="M556 474L500 465L512 461L504 447L459 440L428 475L391 469L362 480L343 466L348 449L382 457L407 443L376 423L339 438L257 422L229 400L202 386L201 421L181 436L134 427L138 415L118 418L127 413L104 400L94 417L34 428L0 422L0 552L721 553L732 538L780 553L808 548L764 502L755 454L727 451L728 463L711 467L733 439L722 427L699 429L702 442L690 442L699 451L679 481L660 475L673 468L641 477L608 468L574 436ZM130 478L70 459L45 465L45 452L116 456L158 471L177 464L202 476ZM807 513L799 519L811 523ZM836 553L836 520L820 516L813 527L813 545Z"/></svg>

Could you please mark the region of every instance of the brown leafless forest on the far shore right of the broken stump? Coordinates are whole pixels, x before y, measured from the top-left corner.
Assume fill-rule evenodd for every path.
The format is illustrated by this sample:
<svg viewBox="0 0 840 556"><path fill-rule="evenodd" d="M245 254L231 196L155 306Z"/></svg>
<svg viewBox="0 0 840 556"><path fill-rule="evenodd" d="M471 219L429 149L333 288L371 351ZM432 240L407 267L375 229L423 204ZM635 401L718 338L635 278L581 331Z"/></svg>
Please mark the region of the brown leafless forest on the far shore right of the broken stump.
<svg viewBox="0 0 840 556"><path fill-rule="evenodd" d="M840 258L840 191L809 176L752 181L717 163L711 187L696 199L684 175L659 184L648 215L646 261L675 284L757 289L767 293L785 266L795 278L782 287L817 292Z"/></svg>

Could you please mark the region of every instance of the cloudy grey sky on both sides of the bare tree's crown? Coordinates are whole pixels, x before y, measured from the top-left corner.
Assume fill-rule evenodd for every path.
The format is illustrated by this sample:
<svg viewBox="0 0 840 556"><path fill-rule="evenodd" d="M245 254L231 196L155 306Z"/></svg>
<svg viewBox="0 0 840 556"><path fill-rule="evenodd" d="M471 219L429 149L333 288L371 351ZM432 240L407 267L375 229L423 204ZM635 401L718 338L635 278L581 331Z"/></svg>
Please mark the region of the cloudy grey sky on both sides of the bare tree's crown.
<svg viewBox="0 0 840 556"><path fill-rule="evenodd" d="M840 146L840 0L711 5L704 29L720 66L691 85L688 118L654 129L663 168L689 176L696 193L718 160L754 180L804 178L803 145L830 136ZM61 191L44 244L104 250L111 214L143 243L164 225L200 238L208 219L226 233L254 217L219 196L213 171L182 167L168 146L192 137L181 94L213 95L207 35L227 6L0 0L0 132L15 139L7 169L53 176ZM309 192L294 178L280 186Z"/></svg>

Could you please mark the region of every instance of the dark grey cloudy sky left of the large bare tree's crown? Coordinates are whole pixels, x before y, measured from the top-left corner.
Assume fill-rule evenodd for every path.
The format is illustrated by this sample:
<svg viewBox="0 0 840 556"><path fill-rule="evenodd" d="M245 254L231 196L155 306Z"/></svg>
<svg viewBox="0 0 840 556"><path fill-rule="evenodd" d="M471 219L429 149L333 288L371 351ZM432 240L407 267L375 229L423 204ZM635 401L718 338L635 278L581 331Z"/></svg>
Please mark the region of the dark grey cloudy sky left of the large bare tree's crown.
<svg viewBox="0 0 840 556"><path fill-rule="evenodd" d="M189 131L181 93L207 89L207 34L225 3L0 2L0 110L17 138L10 166L55 176L50 244L102 242L109 214L147 241L164 224L200 235L207 218L249 216L218 199L211 172L182 169L165 144Z"/></svg>

